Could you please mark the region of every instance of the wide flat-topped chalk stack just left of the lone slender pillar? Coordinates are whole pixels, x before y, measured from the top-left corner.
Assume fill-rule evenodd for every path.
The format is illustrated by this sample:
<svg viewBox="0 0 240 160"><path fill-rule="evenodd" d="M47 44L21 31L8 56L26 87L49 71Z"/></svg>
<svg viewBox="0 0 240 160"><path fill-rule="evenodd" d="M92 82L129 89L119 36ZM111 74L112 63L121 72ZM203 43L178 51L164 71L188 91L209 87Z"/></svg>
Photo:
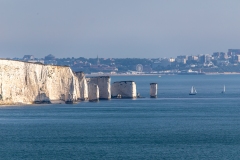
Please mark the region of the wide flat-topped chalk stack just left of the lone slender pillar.
<svg viewBox="0 0 240 160"><path fill-rule="evenodd" d="M121 95L122 98L136 98L136 83L134 81L114 82L111 87L111 93L112 97L118 97Z"/></svg>

